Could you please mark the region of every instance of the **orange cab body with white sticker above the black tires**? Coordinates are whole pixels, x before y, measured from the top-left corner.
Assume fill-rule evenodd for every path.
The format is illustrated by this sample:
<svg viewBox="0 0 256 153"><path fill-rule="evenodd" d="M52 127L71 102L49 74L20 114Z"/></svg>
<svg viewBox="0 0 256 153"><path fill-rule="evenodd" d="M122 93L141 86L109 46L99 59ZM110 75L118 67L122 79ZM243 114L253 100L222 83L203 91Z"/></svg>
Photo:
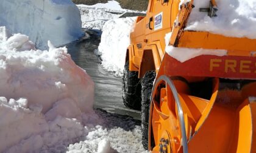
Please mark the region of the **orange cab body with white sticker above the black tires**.
<svg viewBox="0 0 256 153"><path fill-rule="evenodd" d="M150 0L148 6L148 12L146 17L138 17L135 24L133 32L130 33L130 42L133 46L132 58L129 58L130 70L132 71L142 71L139 77L143 77L144 69L140 69L141 64L147 60L147 56L143 56L144 50L152 50L152 52L157 53L160 57L160 63L155 61L156 68L160 65L165 54L165 35L171 31L171 25L174 23L177 13L179 12L179 0L169 1L163 3L162 1ZM162 15L162 28L157 29L155 27L155 18L159 14ZM154 47L157 46L157 47ZM155 58L157 56L154 56ZM158 58L157 58L158 59ZM134 67L137 67L134 69ZM146 67L146 70L149 68Z"/></svg>

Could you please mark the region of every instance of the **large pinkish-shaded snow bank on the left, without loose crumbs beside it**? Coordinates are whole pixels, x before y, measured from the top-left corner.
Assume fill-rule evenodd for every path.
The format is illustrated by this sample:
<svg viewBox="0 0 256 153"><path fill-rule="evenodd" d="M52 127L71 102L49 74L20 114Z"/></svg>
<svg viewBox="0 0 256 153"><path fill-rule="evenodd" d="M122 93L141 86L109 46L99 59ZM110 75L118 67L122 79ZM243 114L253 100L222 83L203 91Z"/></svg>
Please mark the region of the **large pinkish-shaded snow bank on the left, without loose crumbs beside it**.
<svg viewBox="0 0 256 153"><path fill-rule="evenodd" d="M0 152L36 152L80 137L94 84L65 47L35 50L26 35L0 27Z"/></svg>

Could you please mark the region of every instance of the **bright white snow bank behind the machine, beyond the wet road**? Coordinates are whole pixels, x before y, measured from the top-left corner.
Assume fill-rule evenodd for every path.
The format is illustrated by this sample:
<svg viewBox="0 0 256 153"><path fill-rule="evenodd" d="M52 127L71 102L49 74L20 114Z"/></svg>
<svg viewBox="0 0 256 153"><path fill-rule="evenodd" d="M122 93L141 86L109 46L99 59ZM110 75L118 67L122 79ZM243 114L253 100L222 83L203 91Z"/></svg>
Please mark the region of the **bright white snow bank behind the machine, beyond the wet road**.
<svg viewBox="0 0 256 153"><path fill-rule="evenodd" d="M130 32L133 29L134 18L119 18L107 21L103 27L99 54L102 66L116 76L123 74L126 50L130 44Z"/></svg>

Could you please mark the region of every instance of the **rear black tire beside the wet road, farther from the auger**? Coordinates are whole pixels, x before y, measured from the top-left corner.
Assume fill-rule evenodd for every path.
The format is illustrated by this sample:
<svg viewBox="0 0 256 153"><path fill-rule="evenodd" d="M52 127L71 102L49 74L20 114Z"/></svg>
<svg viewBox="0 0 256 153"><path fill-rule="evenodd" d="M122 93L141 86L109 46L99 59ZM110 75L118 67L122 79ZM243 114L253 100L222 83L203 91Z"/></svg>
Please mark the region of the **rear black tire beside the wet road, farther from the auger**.
<svg viewBox="0 0 256 153"><path fill-rule="evenodd" d="M123 75L123 102L130 109L141 109L141 84L138 72L129 70L129 61L124 66Z"/></svg>

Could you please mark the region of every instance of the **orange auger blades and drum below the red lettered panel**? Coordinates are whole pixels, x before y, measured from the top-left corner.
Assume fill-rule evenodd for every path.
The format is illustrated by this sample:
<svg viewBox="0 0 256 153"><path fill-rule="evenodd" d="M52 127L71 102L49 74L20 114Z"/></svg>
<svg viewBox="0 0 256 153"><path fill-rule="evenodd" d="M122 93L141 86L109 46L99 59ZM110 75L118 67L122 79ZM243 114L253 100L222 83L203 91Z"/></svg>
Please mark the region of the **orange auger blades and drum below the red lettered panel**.
<svg viewBox="0 0 256 153"><path fill-rule="evenodd" d="M244 98L244 95L255 97L256 83L250 84L250 89L243 87L240 91L221 91L218 94L219 82L215 79L210 100L193 97L183 90L188 89L182 87L184 84L176 83L175 80L174 84L182 104L188 152L255 152L256 103L250 98ZM154 133L156 144L149 145L149 148L153 152L159 152L159 140L168 138L168 152L183 152L180 120L177 118L179 112L173 95L169 87L162 87L160 90L160 101L155 99L157 95L157 92L153 93L150 122L150 131ZM226 101L227 97L229 101Z"/></svg>

